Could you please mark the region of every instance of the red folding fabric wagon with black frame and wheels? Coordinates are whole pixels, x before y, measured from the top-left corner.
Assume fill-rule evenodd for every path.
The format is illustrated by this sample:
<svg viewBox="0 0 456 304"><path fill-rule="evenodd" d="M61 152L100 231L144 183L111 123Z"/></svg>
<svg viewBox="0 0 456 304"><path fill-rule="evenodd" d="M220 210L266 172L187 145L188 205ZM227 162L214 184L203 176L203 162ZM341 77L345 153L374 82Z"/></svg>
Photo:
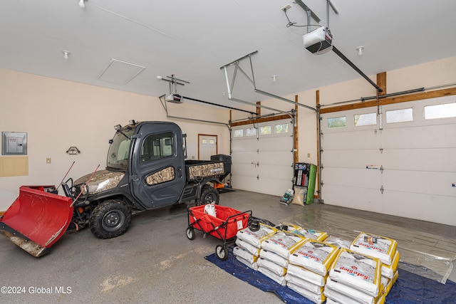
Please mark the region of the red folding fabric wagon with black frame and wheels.
<svg viewBox="0 0 456 304"><path fill-rule="evenodd" d="M195 239L195 229L202 231L203 236L207 234L221 239L223 245L215 247L217 258L224 261L228 258L228 243L235 240L237 231L247 228L252 211L238 211L227 206L215 205L216 216L204 213L204 206L189 207L187 238Z"/></svg>

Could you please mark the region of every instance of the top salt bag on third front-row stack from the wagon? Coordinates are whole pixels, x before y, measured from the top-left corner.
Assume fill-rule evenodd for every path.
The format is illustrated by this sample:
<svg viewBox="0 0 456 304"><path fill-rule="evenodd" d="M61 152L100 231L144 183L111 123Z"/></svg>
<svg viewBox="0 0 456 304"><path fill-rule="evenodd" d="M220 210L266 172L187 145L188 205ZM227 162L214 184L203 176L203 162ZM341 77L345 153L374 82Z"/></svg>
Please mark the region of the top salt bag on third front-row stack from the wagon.
<svg viewBox="0 0 456 304"><path fill-rule="evenodd" d="M321 276L326 276L338 250L336 246L308 240L291 253L289 261Z"/></svg>

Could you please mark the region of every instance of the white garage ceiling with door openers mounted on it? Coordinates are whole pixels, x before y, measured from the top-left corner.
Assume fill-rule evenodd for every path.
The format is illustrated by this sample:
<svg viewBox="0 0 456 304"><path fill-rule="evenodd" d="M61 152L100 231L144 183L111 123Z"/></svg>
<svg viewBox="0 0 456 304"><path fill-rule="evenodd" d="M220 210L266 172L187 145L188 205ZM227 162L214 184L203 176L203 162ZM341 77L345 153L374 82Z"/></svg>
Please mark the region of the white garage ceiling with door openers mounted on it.
<svg viewBox="0 0 456 304"><path fill-rule="evenodd" d="M281 10L290 4L289 19L305 25L292 0L86 0L85 9L78 1L0 0L0 68L152 96L169 93L157 75L174 74L190 82L178 87L181 95L237 108L244 105L223 95L220 68L254 51L257 88L275 95L361 78L336 53L304 48L306 28L287 27ZM326 26L326 0L303 1ZM456 1L331 1L339 13L329 11L333 45L366 75L456 56ZM112 58L145 69L124 85L99 80ZM248 63L241 62L246 72ZM233 97L268 99L240 73Z"/></svg>

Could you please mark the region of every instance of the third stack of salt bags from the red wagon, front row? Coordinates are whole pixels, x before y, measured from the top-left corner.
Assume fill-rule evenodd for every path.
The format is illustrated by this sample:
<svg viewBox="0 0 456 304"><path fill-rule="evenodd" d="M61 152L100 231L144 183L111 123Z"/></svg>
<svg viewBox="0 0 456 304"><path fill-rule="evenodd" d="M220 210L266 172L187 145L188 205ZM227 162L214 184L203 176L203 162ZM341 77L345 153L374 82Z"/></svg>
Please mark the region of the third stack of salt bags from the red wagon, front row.
<svg viewBox="0 0 456 304"><path fill-rule="evenodd" d="M314 303L323 303L323 286L339 248L326 242L307 240L289 257L286 285Z"/></svg>

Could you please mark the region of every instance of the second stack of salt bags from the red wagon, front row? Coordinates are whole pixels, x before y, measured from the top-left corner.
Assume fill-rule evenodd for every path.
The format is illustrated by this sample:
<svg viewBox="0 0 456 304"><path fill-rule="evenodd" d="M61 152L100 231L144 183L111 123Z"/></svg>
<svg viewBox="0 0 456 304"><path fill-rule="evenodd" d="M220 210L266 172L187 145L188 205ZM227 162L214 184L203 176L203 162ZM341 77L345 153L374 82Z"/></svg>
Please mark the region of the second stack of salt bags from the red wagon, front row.
<svg viewBox="0 0 456 304"><path fill-rule="evenodd" d="M285 274L290 253L306 238L286 231L277 231L261 243L258 271L280 285L286 285Z"/></svg>

